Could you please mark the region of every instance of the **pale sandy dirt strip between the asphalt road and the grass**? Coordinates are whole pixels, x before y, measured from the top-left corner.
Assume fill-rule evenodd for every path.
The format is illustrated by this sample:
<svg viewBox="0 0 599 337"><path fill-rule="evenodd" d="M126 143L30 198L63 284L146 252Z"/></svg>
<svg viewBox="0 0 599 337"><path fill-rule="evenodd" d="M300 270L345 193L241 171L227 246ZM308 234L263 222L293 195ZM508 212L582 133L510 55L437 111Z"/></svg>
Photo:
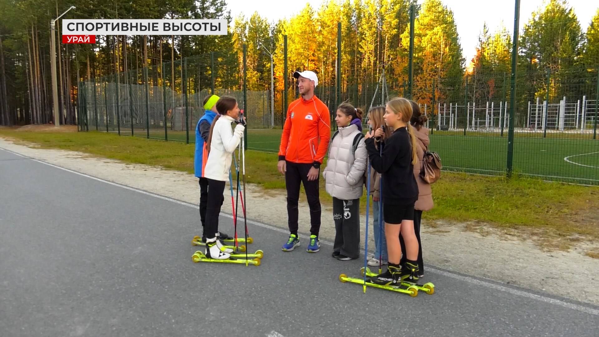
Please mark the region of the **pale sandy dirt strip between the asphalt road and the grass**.
<svg viewBox="0 0 599 337"><path fill-rule="evenodd" d="M81 152L16 145L1 138L0 148L189 203L197 203L199 200L198 180L191 174L151 166L123 164ZM284 194L276 191L264 192L259 186L253 185L247 186L246 193L249 218L276 227L287 227ZM225 189L225 196L229 195L230 192ZM223 211L229 212L229 207L225 201ZM300 210L299 230L307 233L310 223L307 204L300 204ZM362 242L364 223L363 217ZM190 225L190 228L192 226ZM196 226L199 229L199 219ZM544 252L530 240L513 239L501 233L489 234L488 231L483 236L465 230L466 227L467 224L423 221L425 263L599 305L599 259L584 255L590 248L588 245L580 244L567 252ZM222 224L221 228L231 233L232 224ZM332 241L334 233L331 208L324 208L320 236ZM369 236L373 237L372 233ZM281 244L285 239L285 235L282 234ZM374 246L374 242L370 241L368 245Z"/></svg>

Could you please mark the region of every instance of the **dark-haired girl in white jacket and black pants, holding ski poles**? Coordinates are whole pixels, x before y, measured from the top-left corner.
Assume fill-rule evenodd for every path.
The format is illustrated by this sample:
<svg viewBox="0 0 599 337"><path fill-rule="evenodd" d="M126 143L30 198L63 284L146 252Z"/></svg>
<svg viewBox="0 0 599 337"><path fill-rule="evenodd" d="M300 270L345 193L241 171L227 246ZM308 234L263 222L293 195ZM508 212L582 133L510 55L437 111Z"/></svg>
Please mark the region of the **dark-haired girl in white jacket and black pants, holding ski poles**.
<svg viewBox="0 0 599 337"><path fill-rule="evenodd" d="M232 154L241 142L246 122L245 117L240 118L237 100L230 96L220 97L216 102L218 115L210 127L210 136L206 143L208 160L204 169L204 177L208 179L208 204L206 205L206 257L226 260L233 252L225 248L220 240L216 239L219 229L220 206L223 204L225 182L229 179ZM231 130L231 123L237 122L235 131Z"/></svg>

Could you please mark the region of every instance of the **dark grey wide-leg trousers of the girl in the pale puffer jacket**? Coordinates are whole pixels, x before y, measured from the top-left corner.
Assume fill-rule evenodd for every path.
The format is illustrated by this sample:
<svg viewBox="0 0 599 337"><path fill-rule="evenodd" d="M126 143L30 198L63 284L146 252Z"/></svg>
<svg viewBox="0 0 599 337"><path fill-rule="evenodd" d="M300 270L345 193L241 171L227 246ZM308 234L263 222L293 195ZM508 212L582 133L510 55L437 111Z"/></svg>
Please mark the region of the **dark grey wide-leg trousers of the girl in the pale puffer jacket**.
<svg viewBox="0 0 599 337"><path fill-rule="evenodd" d="M359 257L360 249L360 200L341 200L333 197L335 220L335 243L333 251L347 257Z"/></svg>

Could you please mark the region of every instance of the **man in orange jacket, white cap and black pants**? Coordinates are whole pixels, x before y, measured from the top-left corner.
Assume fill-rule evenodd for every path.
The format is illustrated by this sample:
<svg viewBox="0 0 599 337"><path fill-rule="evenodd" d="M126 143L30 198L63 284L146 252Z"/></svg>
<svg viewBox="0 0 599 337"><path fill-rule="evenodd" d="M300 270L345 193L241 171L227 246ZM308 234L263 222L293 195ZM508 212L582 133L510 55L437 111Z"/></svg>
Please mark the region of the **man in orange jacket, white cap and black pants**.
<svg viewBox="0 0 599 337"><path fill-rule="evenodd" d="M301 98L289 104L287 119L283 127L279 148L279 172L285 174L287 188L287 215L289 239L283 251L292 251L299 246L298 201L299 185L304 183L305 194L310 206L310 243L306 251L320 249L319 176L320 164L325 158L331 139L331 117L329 109L314 96L318 77L313 71L296 71Z"/></svg>

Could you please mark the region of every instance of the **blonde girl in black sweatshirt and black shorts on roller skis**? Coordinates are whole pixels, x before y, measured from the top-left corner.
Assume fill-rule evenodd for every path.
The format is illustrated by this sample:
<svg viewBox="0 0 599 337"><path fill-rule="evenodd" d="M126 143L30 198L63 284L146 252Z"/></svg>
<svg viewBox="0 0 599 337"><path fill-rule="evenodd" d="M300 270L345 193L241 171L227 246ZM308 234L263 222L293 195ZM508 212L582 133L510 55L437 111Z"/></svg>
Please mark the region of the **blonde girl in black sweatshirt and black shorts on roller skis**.
<svg viewBox="0 0 599 337"><path fill-rule="evenodd" d="M394 98L385 107L385 124L394 133L385 140L382 155L374 146L374 139L383 136L383 129L366 134L366 149L372 167L381 173L383 188L383 219L389 255L385 273L373 276L370 281L381 285L399 284L401 281L416 284L419 266L418 240L414 232L414 203L418 200L418 183L414 177L416 137L412 125L412 103L406 98ZM400 265L401 245L399 234L406 244L406 264Z"/></svg>

